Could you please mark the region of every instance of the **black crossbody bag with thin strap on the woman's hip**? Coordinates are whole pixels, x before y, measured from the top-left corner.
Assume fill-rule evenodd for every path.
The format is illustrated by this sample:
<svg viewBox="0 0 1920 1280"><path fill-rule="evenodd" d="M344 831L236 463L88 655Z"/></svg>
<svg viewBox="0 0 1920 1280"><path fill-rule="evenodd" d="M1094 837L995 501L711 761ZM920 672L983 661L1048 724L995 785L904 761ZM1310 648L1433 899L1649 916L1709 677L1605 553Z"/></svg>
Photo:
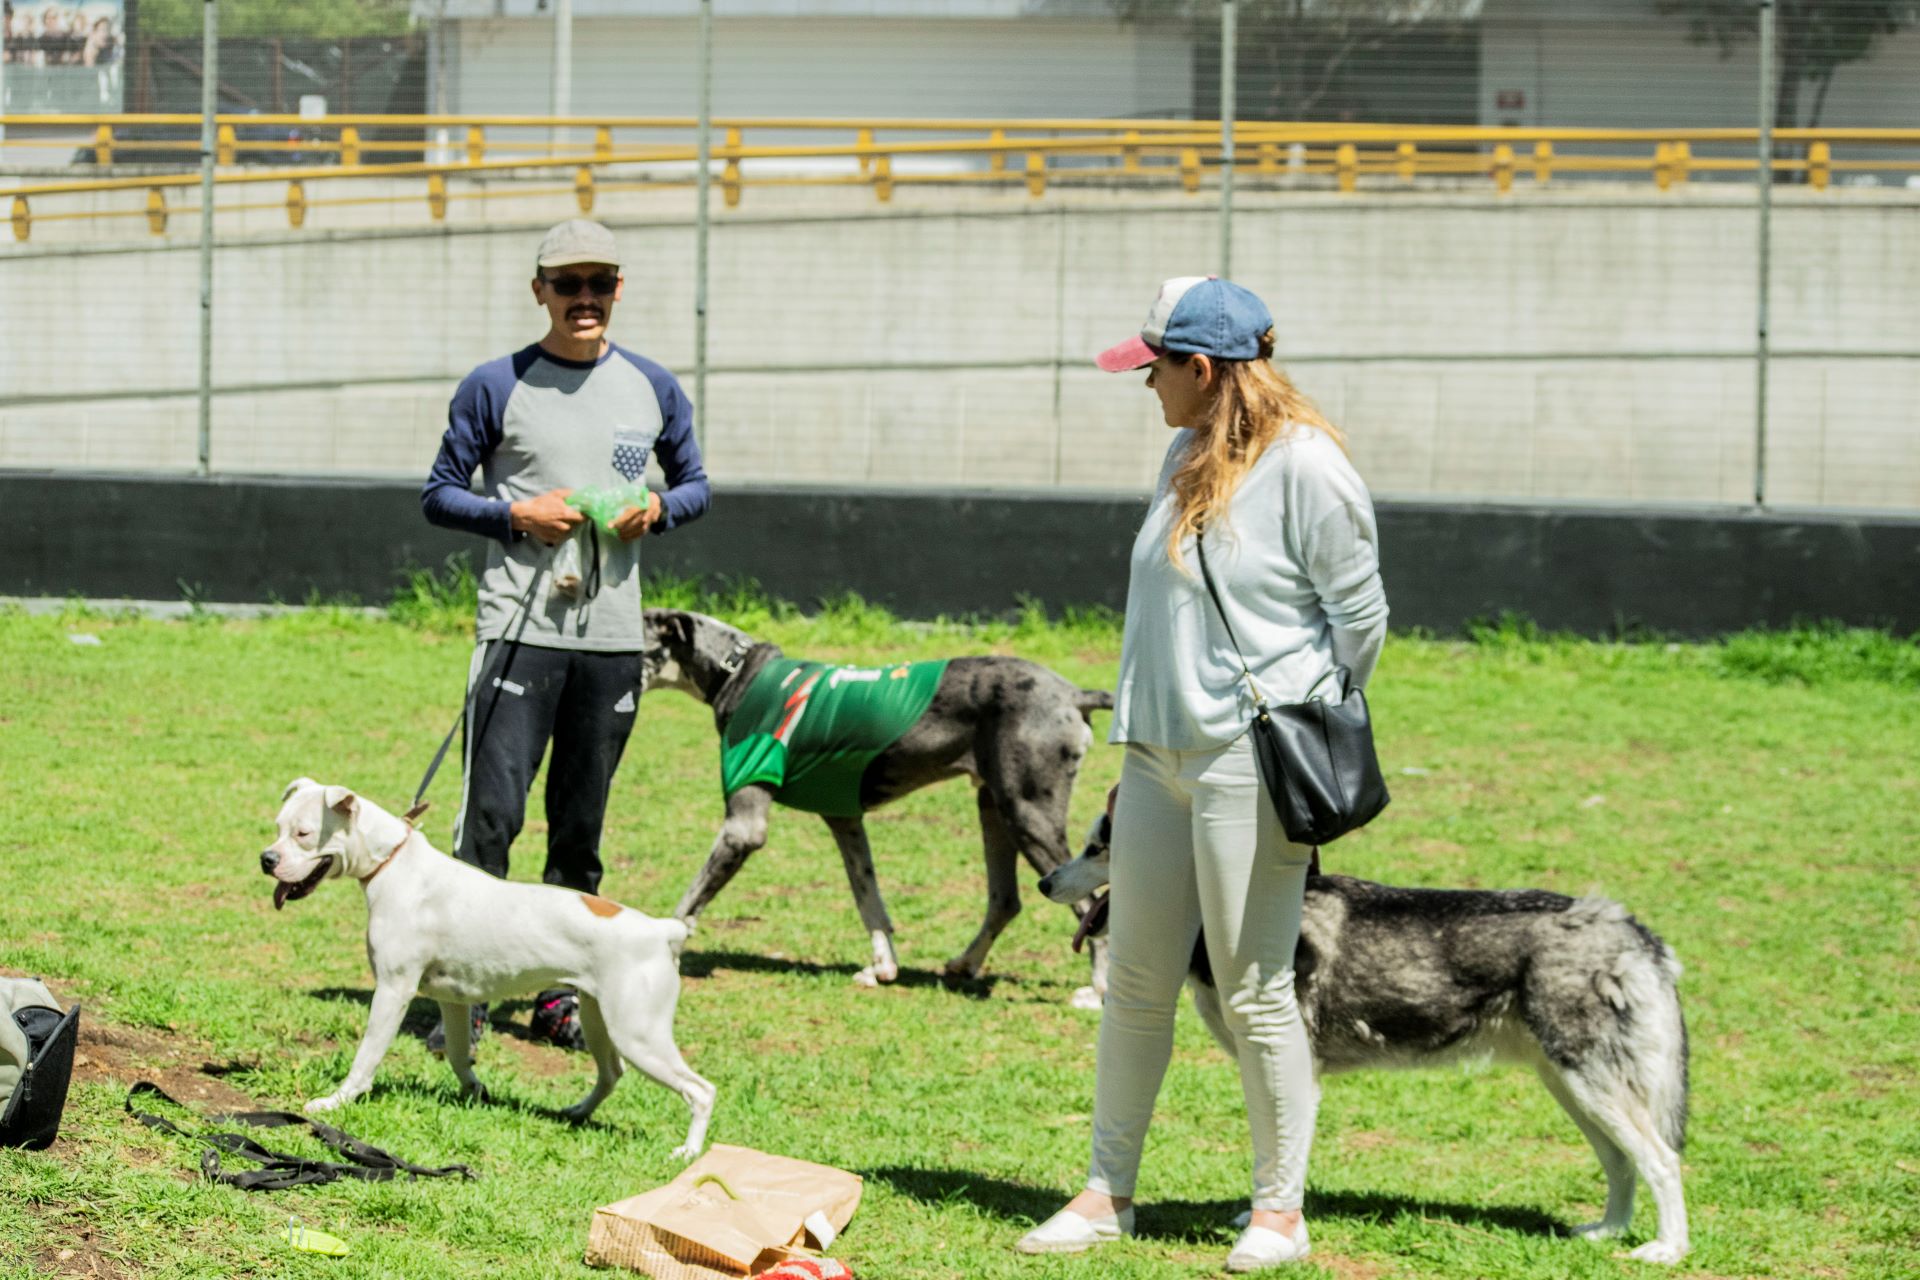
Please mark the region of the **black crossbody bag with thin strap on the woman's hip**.
<svg viewBox="0 0 1920 1280"><path fill-rule="evenodd" d="M1367 695L1354 689L1352 674L1336 666L1327 676L1340 679L1340 700L1315 699L1327 676L1313 681L1304 702L1269 706L1246 654L1227 620L1213 572L1206 566L1206 539L1196 537L1200 576L1213 608L1227 626L1227 641L1240 658L1240 676L1254 695L1254 760L1267 783L1267 796L1281 816L1286 839L1294 844L1331 844L1356 827L1365 827L1386 808L1386 779L1380 777L1380 758L1373 752L1373 720L1367 716Z"/></svg>

